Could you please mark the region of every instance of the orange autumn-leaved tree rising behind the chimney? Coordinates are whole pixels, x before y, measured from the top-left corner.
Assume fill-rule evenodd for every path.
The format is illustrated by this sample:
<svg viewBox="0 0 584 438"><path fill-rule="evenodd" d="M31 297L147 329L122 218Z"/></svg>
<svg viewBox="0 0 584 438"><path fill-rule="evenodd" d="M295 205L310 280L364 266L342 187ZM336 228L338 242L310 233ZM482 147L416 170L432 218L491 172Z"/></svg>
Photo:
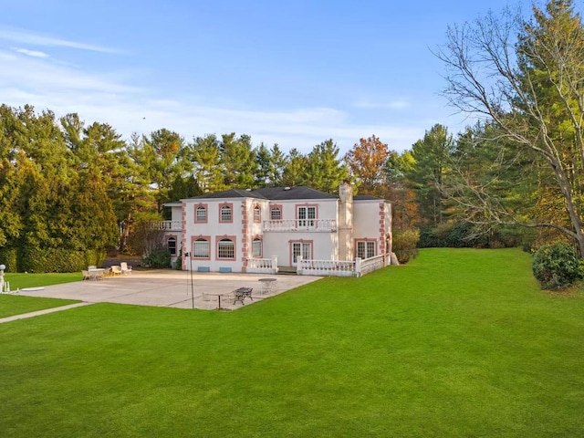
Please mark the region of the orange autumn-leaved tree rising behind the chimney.
<svg viewBox="0 0 584 438"><path fill-rule="evenodd" d="M360 193L382 196L386 163L391 151L386 143L374 135L360 139L345 155L350 174Z"/></svg>

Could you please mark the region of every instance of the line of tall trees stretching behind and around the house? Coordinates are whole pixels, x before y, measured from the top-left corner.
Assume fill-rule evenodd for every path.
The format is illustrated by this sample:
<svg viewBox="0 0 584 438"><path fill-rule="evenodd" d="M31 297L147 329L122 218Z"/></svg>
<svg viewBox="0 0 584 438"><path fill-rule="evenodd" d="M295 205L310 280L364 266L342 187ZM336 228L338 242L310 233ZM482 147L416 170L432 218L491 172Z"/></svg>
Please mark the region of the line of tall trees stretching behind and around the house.
<svg viewBox="0 0 584 438"><path fill-rule="evenodd" d="M435 125L402 152L375 135L343 156L332 140L284 152L235 133L125 141L77 114L2 105L0 258L18 270L88 265L110 247L137 251L132 229L169 201L267 186L336 193L347 179L393 203L398 248L563 239L583 255L584 32L572 1L451 26L436 56L444 95L477 121L455 135Z"/></svg>

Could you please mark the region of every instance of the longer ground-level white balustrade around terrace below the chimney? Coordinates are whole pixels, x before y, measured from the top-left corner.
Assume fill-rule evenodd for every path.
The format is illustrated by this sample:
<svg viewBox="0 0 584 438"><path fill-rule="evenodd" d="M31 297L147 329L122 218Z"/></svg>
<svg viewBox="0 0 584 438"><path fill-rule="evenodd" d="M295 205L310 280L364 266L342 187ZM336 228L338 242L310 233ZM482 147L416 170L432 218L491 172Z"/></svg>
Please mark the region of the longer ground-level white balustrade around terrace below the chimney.
<svg viewBox="0 0 584 438"><path fill-rule="evenodd" d="M382 254L354 261L303 260L297 258L298 276L364 276L390 264L390 255Z"/></svg>

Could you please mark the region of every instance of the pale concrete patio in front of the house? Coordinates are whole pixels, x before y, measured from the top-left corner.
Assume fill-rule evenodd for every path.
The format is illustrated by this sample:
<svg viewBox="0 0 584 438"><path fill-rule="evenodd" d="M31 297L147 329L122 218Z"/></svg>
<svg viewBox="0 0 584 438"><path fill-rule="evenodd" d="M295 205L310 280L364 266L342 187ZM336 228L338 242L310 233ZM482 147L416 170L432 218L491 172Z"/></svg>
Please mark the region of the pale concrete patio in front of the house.
<svg viewBox="0 0 584 438"><path fill-rule="evenodd" d="M276 278L275 291L263 294L260 278ZM87 303L118 303L163 308L218 308L218 294L228 294L238 287L252 287L253 301L245 298L245 306L289 289L318 280L319 276L220 274L188 271L133 271L131 275L109 276L103 280L79 281L47 286L41 290L21 290L28 297L78 299ZM203 299L203 293L209 294ZM221 308L240 308L225 297Z"/></svg>

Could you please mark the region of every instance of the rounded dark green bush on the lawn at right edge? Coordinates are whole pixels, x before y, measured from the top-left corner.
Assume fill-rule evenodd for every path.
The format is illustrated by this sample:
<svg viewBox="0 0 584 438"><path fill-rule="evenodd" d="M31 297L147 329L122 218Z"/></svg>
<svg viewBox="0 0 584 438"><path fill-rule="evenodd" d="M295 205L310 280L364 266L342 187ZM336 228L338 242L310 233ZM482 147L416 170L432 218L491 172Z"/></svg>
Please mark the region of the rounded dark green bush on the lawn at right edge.
<svg viewBox="0 0 584 438"><path fill-rule="evenodd" d="M533 257L533 275L544 289L567 287L584 277L576 250L565 242L541 246Z"/></svg>

